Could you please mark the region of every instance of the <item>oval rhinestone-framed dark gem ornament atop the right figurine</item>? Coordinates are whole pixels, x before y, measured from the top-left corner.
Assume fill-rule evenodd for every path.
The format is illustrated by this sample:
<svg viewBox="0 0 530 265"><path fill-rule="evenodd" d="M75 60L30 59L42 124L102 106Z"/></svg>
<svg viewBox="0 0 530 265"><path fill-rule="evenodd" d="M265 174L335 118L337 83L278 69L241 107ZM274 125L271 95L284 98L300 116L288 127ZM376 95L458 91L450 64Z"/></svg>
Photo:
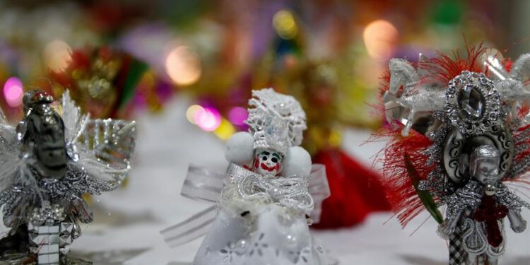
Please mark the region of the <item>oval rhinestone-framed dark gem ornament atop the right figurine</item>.
<svg viewBox="0 0 530 265"><path fill-rule="evenodd" d="M463 71L449 81L444 112L465 136L483 134L502 118L500 95L483 73Z"/></svg>

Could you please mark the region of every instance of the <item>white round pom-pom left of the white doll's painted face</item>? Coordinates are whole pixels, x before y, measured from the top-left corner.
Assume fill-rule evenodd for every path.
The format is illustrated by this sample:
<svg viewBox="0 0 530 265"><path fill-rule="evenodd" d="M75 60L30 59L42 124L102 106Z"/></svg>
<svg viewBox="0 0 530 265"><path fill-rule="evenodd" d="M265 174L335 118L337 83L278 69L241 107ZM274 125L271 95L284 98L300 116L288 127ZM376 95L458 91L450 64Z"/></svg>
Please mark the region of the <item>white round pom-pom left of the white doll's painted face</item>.
<svg viewBox="0 0 530 265"><path fill-rule="evenodd" d="M237 165L252 163L254 156L254 138L247 131L240 131L230 136L226 142L225 158Z"/></svg>

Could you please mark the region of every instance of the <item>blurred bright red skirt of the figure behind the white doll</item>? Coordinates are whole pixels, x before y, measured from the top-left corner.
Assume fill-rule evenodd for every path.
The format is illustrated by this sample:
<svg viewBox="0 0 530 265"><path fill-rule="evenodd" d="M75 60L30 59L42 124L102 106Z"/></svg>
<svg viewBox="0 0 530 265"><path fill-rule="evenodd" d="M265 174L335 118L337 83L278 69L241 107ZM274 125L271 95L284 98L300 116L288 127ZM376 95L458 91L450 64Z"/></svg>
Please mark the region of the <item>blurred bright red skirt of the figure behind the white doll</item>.
<svg viewBox="0 0 530 265"><path fill-rule="evenodd" d="M381 177L338 149L317 153L313 163L326 165L331 196L322 204L320 222L313 228L357 225L376 211L390 211Z"/></svg>

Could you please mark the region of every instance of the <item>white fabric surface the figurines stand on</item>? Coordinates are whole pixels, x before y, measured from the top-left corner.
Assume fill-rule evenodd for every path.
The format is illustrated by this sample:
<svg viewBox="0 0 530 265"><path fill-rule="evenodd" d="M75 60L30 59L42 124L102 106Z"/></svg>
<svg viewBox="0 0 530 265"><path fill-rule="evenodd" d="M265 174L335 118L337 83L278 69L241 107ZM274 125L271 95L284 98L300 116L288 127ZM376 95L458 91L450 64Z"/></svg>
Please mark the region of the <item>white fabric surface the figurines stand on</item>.
<svg viewBox="0 0 530 265"><path fill-rule="evenodd" d="M125 264L191 264L202 238L170 249L159 231L208 207L178 195L188 163L218 170L225 170L228 163L223 155L223 141L187 122L184 114L187 105L186 99L179 98L162 114L143 114L137 119L136 163L127 187L98 197L100 204L95 203L95 207L103 207L112 214L95 216L95 222L86 225L84 235L73 242L74 251L149 249ZM343 147L370 166L372 155L384 143L360 146L369 135L367 131L345 131ZM524 216L530 220L530 211L524 210ZM312 232L344 265L447 264L447 245L436 235L434 220L428 220L410 236L428 214L416 218L406 229L389 218L390 213L379 213L355 228ZM112 225L107 220L112 220ZM507 252L500 264L530 264L530 229L515 234L507 227Z"/></svg>

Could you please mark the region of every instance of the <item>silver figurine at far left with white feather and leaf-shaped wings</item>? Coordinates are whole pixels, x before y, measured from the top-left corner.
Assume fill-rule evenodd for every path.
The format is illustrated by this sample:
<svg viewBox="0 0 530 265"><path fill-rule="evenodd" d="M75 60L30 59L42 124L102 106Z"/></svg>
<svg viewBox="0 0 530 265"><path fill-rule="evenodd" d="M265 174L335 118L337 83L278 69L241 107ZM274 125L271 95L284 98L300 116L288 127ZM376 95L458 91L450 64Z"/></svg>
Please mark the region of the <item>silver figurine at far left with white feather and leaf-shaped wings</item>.
<svg viewBox="0 0 530 265"><path fill-rule="evenodd" d="M11 228L0 240L1 260L90 264L66 257L81 235L79 222L93 220L83 194L119 187L130 168L136 124L90 119L68 92L59 105L42 91L29 91L23 108L16 127L0 112L0 206Z"/></svg>

